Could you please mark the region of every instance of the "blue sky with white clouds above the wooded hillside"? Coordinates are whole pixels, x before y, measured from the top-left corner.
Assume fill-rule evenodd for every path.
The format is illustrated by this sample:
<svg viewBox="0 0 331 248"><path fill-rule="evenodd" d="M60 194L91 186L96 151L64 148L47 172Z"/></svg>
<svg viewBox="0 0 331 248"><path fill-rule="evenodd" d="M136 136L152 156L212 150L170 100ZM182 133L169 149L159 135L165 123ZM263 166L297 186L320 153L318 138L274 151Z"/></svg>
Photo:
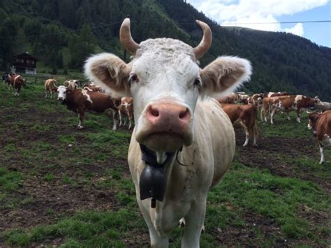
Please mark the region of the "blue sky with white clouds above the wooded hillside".
<svg viewBox="0 0 331 248"><path fill-rule="evenodd" d="M219 24L265 31L284 31L331 48L331 22L304 23L304 21L331 20L331 0L186 0L186 2L191 3L197 10ZM299 23L265 24L265 22Z"/></svg>

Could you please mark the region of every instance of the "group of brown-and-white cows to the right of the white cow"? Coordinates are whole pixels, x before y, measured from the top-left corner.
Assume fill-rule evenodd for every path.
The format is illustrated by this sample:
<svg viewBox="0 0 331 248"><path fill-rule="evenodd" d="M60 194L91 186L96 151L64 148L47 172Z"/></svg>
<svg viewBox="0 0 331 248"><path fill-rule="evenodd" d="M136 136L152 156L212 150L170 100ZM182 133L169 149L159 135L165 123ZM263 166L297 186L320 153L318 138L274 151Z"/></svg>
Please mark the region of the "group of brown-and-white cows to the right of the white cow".
<svg viewBox="0 0 331 248"><path fill-rule="evenodd" d="M321 161L325 162L324 147L331 145L331 103L321 101L318 96L314 98L303 95L290 95L287 92L268 92L249 96L244 92L230 93L218 99L223 110L228 114L234 127L244 127L246 140L244 146L249 143L249 137L253 136L253 145L257 137L257 112L265 122L274 124L274 115L285 112L290 119L289 112L295 111L297 122L304 110L314 110L309 115L309 129L314 130L314 136L320 147Z"/></svg>

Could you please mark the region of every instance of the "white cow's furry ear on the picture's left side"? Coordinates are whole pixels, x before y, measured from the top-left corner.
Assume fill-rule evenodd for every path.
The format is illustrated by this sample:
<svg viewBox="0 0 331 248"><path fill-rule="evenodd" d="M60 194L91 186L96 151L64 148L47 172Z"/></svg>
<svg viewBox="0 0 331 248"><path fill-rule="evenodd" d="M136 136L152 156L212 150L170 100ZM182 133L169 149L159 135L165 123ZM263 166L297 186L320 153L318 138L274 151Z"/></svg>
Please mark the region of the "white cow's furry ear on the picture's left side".
<svg viewBox="0 0 331 248"><path fill-rule="evenodd" d="M87 78L108 89L113 97L130 95L128 75L131 65L114 54L101 53L87 59L84 65Z"/></svg>

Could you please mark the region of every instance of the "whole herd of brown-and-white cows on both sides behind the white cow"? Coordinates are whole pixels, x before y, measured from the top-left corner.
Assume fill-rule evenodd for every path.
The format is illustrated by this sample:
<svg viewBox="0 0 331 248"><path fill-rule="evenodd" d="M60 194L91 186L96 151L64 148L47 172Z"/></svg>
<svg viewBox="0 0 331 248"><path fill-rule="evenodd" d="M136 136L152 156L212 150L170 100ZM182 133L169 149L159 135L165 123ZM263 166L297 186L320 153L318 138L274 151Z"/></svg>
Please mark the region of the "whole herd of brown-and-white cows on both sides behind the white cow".
<svg viewBox="0 0 331 248"><path fill-rule="evenodd" d="M15 96L20 95L22 86L26 86L26 80L21 75L15 73L5 73L3 82L8 84L8 87L13 88ZM122 98L112 98L109 94L105 94L105 89L101 86L89 82L82 85L79 89L80 82L78 80L65 80L64 85L57 87L57 80L45 80L45 98L52 99L52 93L57 92L58 100L67 106L69 110L79 114L78 129L83 129L84 112L104 113L112 117L113 130L119 126L126 126L128 120L128 129L131 129L133 121L133 98L124 96ZM287 119L290 119L289 112L295 111L297 114L297 122L303 110L314 110L314 114L309 113L309 129L314 129L314 136L317 138L318 145L321 151L321 161L325 162L324 147L330 145L331 134L328 123L331 110L331 103L323 102L318 97L310 98L302 95L290 95L287 92L268 92L253 94L249 96L245 92L233 92L226 96L216 98L221 104L221 107L226 112L230 121L235 128L243 127L246 134L246 140L243 146L247 146L249 138L253 137L253 146L256 146L258 136L257 117L260 111L260 118L265 122L270 118L270 123L274 124L274 115L278 112L286 112ZM319 121L322 112L323 122ZM325 119L326 118L326 119ZM329 121L330 122L330 121ZM316 125L317 124L317 125ZM325 134L321 134L320 129L323 129ZM329 133L328 133L329 132ZM319 133L317 135L317 133Z"/></svg>

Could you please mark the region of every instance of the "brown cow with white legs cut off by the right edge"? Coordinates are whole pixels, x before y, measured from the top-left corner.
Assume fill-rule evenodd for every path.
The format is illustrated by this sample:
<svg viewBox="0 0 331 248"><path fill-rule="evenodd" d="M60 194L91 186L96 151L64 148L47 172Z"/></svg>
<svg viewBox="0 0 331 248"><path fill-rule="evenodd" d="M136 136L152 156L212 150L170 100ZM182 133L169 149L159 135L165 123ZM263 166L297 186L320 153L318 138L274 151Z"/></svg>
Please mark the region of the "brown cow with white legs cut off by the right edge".
<svg viewBox="0 0 331 248"><path fill-rule="evenodd" d="M314 131L321 152L320 164L324 163L324 147L331 145L331 110L327 110L322 114L317 112L309 114L308 129Z"/></svg>

